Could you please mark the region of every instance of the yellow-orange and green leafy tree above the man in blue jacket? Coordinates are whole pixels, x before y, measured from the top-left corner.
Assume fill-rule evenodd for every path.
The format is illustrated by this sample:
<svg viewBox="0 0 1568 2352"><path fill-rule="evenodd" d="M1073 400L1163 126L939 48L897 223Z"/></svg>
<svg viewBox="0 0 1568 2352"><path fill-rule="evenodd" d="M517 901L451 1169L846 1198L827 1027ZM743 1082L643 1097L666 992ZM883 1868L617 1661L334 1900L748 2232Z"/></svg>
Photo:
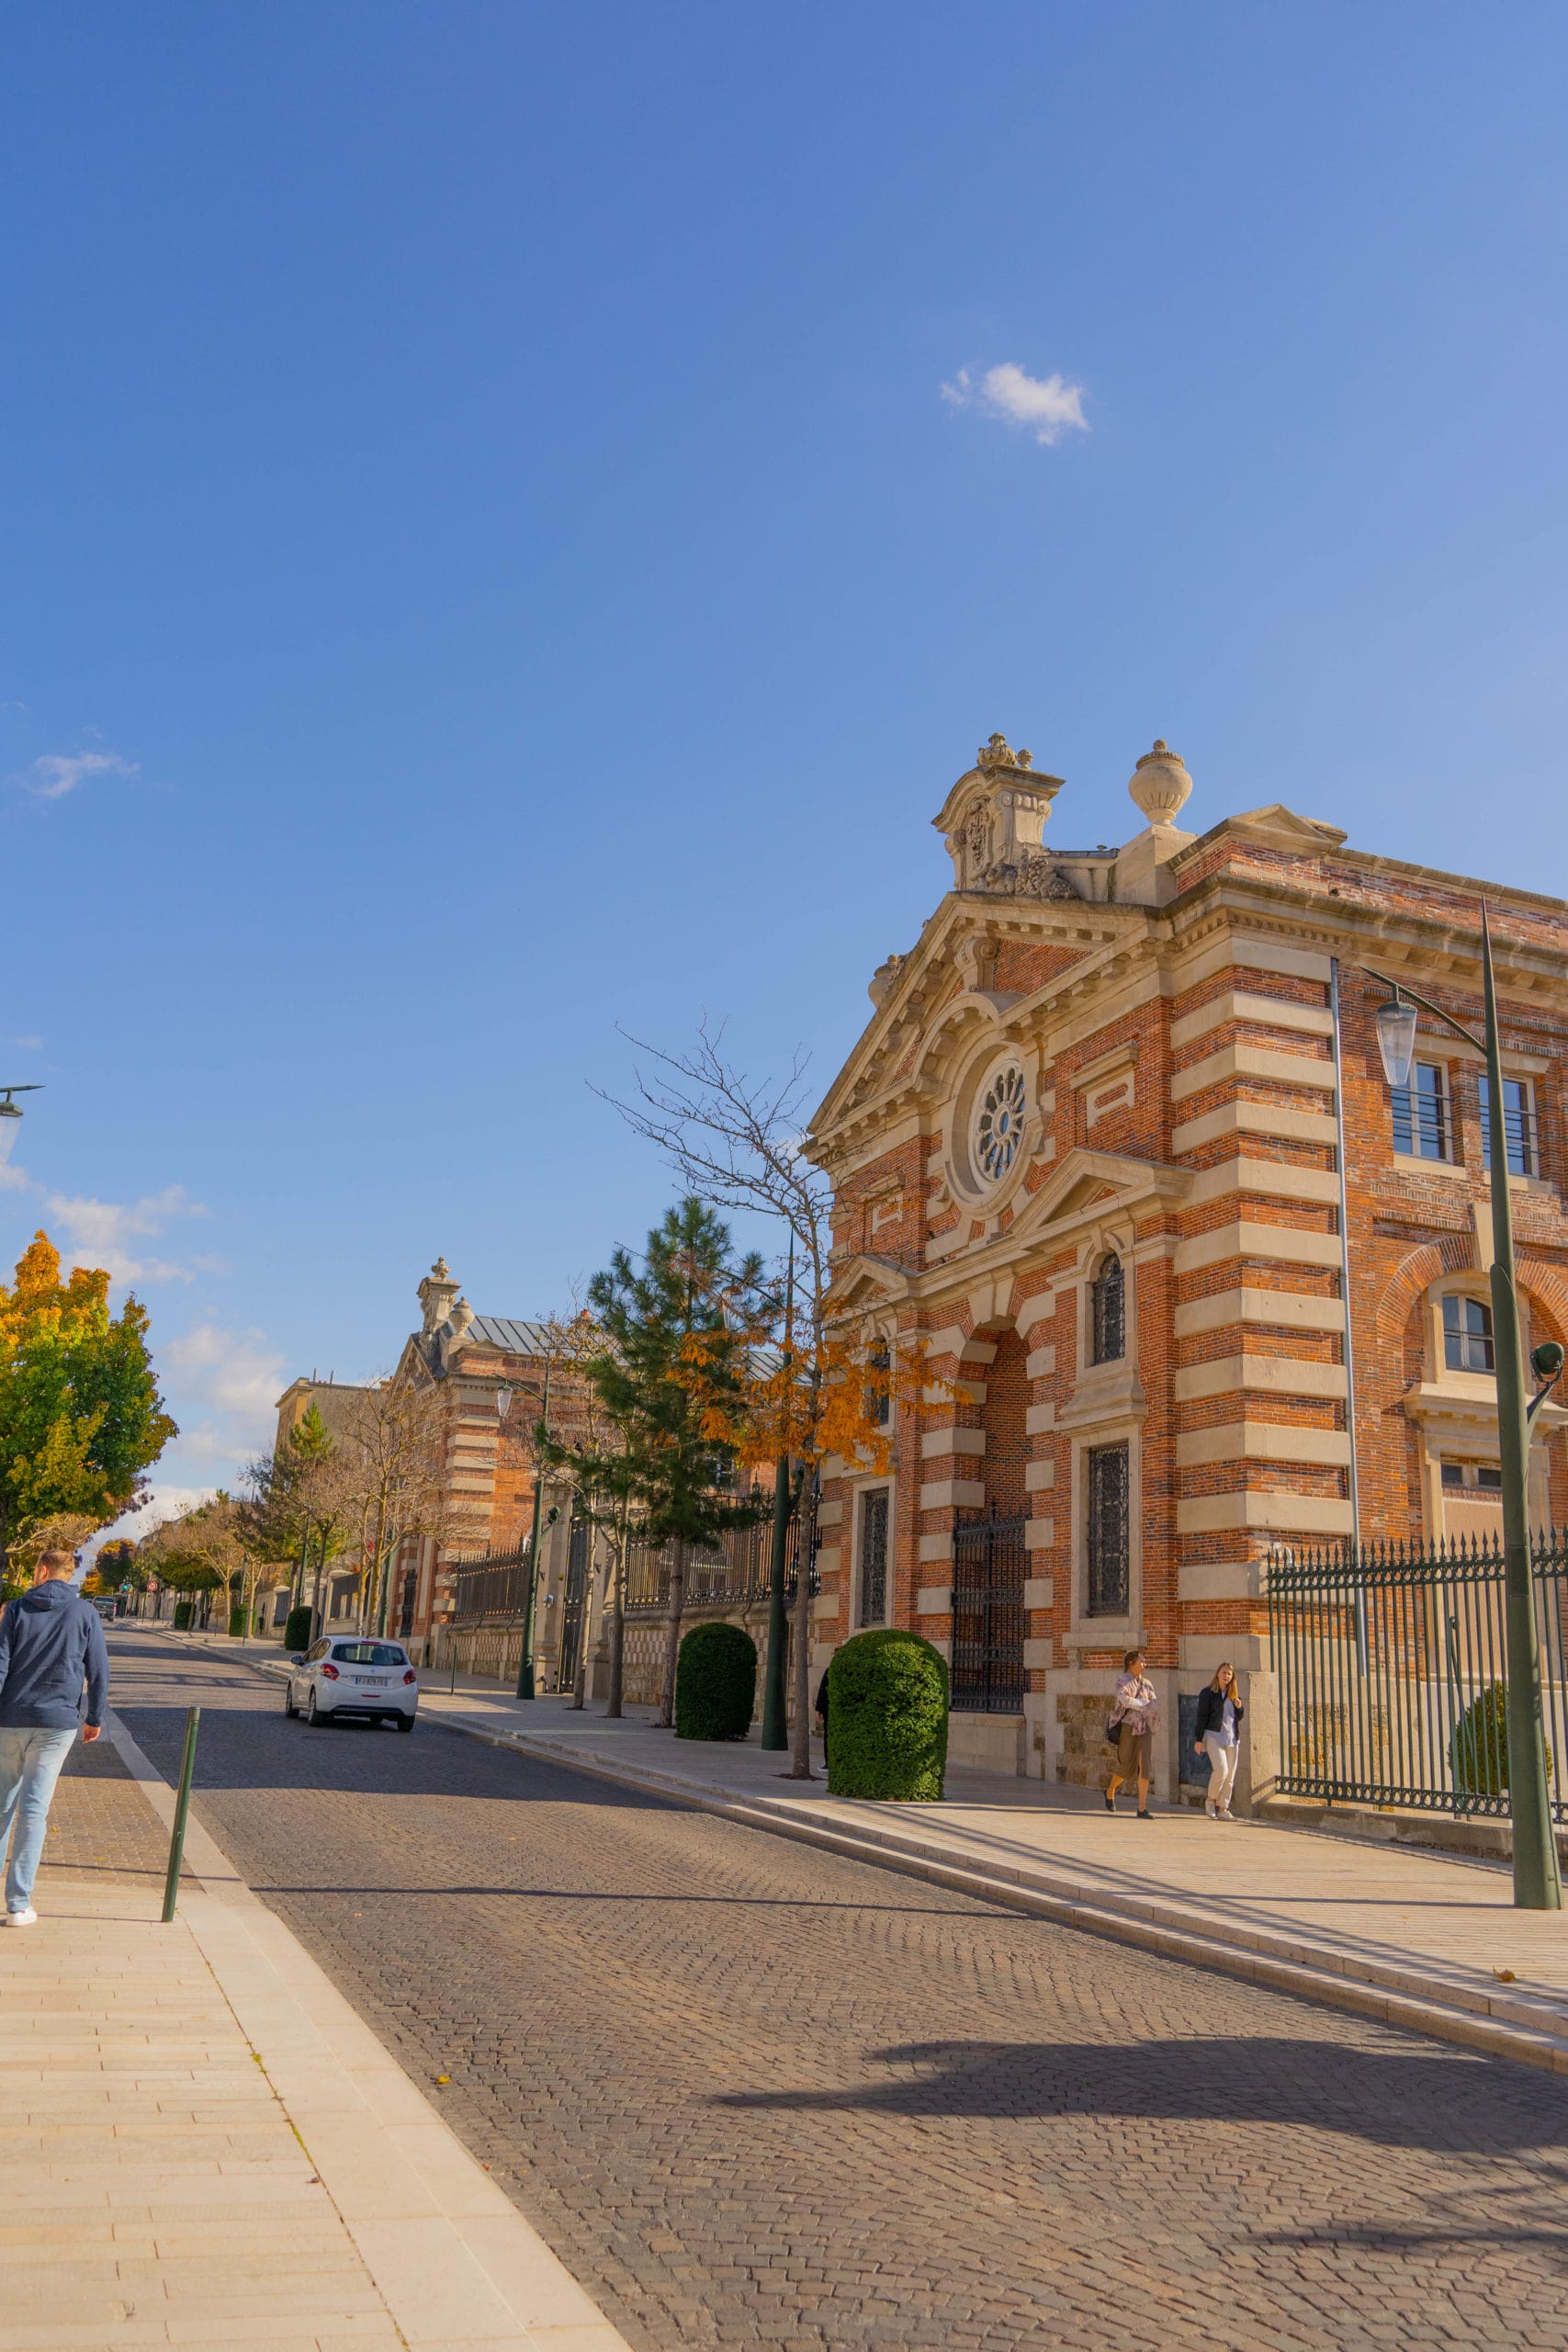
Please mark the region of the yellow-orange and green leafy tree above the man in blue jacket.
<svg viewBox="0 0 1568 2352"><path fill-rule="evenodd" d="M96 1526L127 1510L176 1428L146 1345L148 1315L108 1312L108 1275L38 1232L0 1287L0 1550L52 1512Z"/></svg>

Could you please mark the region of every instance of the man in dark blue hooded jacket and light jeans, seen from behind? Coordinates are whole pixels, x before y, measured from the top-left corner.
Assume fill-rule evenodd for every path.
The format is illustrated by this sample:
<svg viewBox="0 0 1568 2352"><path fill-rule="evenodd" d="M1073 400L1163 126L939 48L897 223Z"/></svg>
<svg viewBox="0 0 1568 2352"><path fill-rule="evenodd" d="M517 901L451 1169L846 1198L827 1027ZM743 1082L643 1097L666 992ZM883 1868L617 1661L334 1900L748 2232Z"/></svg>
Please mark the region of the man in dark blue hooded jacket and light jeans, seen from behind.
<svg viewBox="0 0 1568 2352"><path fill-rule="evenodd" d="M0 1853L12 1839L5 1875L5 1924L33 1926L33 1879L45 1849L54 1783L78 1729L96 1740L108 1696L103 1621L73 1592L71 1552L45 1552L33 1590L0 1616ZM82 1726L82 1682L87 1724ZM12 1835L14 1828L14 1835Z"/></svg>

